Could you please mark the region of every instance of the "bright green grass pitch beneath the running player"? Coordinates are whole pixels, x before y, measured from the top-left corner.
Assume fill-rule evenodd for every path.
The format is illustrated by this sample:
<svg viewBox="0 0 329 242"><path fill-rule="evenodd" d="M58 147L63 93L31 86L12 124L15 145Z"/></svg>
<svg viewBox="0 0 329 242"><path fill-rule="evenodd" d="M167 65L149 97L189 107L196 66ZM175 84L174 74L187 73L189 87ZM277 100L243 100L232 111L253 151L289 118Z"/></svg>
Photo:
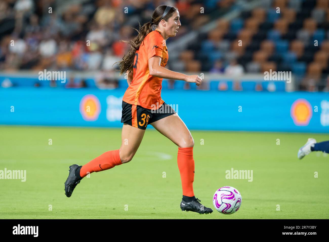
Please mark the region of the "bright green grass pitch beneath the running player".
<svg viewBox="0 0 329 242"><path fill-rule="evenodd" d="M327 134L191 133L195 142L195 196L214 209L216 189L233 186L242 196L242 205L235 214L223 215L215 210L200 215L180 210L178 148L154 129L146 130L131 162L90 174L67 198L64 182L69 165L84 165L107 150L118 149L121 129L0 126L0 170L26 170L25 182L0 180L0 218L329 218L329 156L312 152L297 159L298 148L307 138L319 142L328 140ZM253 181L226 179L225 171L232 168L253 170Z"/></svg>

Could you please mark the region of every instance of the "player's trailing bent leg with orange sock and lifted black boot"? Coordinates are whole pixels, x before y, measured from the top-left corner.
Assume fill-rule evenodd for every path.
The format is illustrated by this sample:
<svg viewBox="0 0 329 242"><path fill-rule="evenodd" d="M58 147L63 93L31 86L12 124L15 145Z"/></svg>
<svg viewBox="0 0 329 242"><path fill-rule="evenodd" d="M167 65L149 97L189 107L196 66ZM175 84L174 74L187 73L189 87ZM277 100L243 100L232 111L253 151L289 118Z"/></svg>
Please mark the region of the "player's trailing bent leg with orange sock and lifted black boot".
<svg viewBox="0 0 329 242"><path fill-rule="evenodd" d="M78 166L76 164L70 166L69 175L65 182L66 196L70 197L72 195L76 185L86 175L93 172L105 171L131 161L139 148L144 133L145 130L143 129L123 124L120 149L107 151L84 166Z"/></svg>

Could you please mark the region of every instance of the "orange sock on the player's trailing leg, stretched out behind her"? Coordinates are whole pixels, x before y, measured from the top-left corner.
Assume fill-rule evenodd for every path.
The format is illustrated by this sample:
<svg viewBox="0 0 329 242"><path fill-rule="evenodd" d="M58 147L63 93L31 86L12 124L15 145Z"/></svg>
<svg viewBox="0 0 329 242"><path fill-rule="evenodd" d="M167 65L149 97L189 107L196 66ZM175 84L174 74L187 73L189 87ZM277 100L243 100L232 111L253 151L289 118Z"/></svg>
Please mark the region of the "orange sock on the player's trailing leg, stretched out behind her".
<svg viewBox="0 0 329 242"><path fill-rule="evenodd" d="M80 170L80 176L85 177L88 175L87 172L92 173L105 171L121 164L122 163L120 160L119 150L110 150L82 166Z"/></svg>

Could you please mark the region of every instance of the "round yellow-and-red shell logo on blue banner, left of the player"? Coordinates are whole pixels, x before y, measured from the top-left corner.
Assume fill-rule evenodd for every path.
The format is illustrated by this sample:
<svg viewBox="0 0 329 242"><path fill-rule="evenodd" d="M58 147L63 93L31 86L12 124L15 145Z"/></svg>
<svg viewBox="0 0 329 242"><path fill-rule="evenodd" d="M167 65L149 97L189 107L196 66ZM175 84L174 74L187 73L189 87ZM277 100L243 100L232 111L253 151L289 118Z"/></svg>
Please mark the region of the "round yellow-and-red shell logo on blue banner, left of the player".
<svg viewBox="0 0 329 242"><path fill-rule="evenodd" d="M95 95L87 94L80 101L80 113L86 121L95 121L101 112L101 104Z"/></svg>

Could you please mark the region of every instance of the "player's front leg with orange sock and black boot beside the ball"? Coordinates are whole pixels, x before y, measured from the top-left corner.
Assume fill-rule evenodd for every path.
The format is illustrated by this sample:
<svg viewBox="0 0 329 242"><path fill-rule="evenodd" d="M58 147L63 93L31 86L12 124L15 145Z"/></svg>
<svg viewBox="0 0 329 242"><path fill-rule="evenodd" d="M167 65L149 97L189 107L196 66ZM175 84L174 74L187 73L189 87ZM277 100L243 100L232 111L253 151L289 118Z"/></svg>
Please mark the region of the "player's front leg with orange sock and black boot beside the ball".
<svg viewBox="0 0 329 242"><path fill-rule="evenodd" d="M150 124L178 146L177 164L183 188L183 200L180 205L182 211L193 211L200 214L211 213L213 210L204 207L200 203L201 201L194 196L194 141L185 123L175 114Z"/></svg>

